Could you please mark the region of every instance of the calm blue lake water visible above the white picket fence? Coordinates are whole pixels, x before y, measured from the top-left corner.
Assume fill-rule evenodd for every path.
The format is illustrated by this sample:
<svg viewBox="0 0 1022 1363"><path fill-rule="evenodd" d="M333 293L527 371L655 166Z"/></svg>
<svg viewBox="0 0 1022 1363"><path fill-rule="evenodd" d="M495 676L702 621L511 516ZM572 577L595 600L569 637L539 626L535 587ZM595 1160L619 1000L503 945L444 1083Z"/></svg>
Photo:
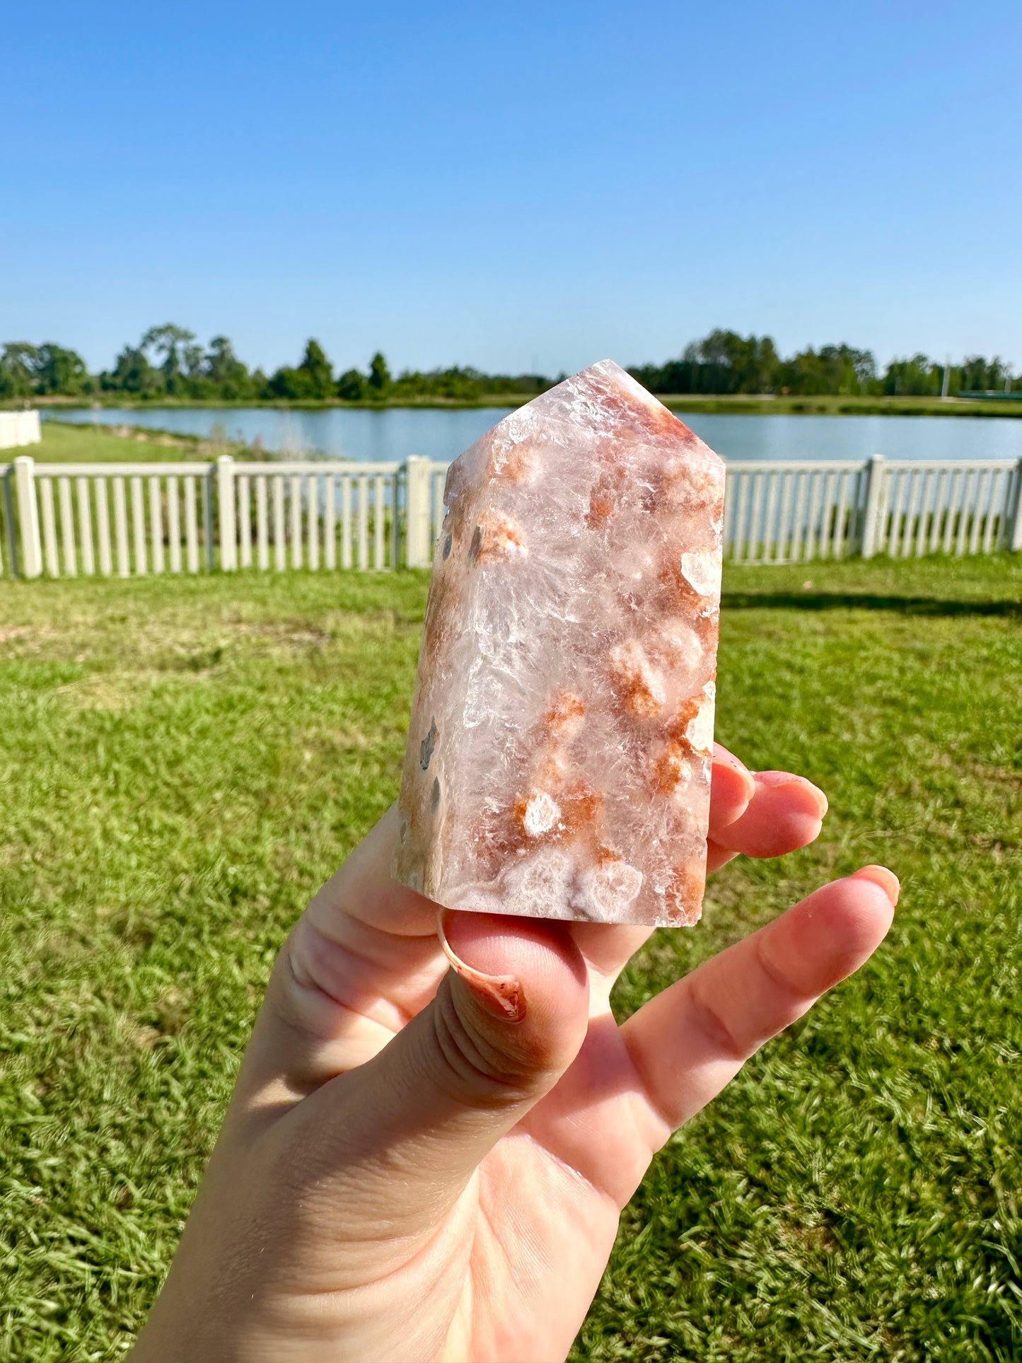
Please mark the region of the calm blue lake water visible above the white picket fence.
<svg viewBox="0 0 1022 1363"><path fill-rule="evenodd" d="M425 454L454 459L510 408L382 412L331 408L288 412L273 408L120 408L42 412L78 424L147 427L181 435L259 439L267 453L405 459ZM725 459L1018 459L1022 420L1011 417L816 417L680 413L681 420Z"/></svg>

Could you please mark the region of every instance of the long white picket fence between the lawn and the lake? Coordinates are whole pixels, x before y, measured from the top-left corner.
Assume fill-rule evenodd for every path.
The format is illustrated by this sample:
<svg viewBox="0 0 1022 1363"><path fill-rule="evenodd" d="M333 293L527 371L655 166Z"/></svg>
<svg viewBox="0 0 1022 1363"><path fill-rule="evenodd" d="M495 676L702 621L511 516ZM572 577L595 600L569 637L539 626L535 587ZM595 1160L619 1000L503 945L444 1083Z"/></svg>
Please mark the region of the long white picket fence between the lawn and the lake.
<svg viewBox="0 0 1022 1363"><path fill-rule="evenodd" d="M446 463L0 465L0 571L35 578L221 568L427 568ZM1022 461L728 465L725 553L794 563L858 553L1022 549Z"/></svg>

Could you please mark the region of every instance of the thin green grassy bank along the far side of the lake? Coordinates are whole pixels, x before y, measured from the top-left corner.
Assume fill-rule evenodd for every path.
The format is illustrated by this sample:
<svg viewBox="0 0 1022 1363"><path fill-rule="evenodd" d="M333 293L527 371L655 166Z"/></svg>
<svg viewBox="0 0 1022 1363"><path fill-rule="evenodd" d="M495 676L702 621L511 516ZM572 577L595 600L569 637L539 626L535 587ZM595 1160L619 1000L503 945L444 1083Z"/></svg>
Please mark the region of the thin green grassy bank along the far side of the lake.
<svg viewBox="0 0 1022 1363"><path fill-rule="evenodd" d="M660 401L672 412L730 413L734 416L898 416L898 417L1018 417L1022 418L1022 402L999 401L996 398L887 398L887 397L843 397L841 394L820 395L770 395L770 394L658 394ZM267 408L283 412L324 412L332 408L353 412L387 412L391 408L410 410L478 410L481 408L519 408L530 402L523 393L488 393L478 399L455 398L402 398L384 402L343 402L339 398L327 402L195 402L189 399L159 398L146 402L132 402L129 398L113 395L83 401L79 398L34 398L34 406L94 409L117 408L129 412L146 412L154 408L208 409L233 412L240 408Z"/></svg>

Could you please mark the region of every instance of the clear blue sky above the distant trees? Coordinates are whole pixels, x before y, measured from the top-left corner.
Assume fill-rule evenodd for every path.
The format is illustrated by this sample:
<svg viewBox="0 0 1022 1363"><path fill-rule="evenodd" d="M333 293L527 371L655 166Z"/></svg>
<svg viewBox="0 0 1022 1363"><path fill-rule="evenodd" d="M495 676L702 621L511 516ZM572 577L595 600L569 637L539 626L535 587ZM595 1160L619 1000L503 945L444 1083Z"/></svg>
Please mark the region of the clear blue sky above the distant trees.
<svg viewBox="0 0 1022 1363"><path fill-rule="evenodd" d="M0 341L1022 367L1022 7L3 5Z"/></svg>

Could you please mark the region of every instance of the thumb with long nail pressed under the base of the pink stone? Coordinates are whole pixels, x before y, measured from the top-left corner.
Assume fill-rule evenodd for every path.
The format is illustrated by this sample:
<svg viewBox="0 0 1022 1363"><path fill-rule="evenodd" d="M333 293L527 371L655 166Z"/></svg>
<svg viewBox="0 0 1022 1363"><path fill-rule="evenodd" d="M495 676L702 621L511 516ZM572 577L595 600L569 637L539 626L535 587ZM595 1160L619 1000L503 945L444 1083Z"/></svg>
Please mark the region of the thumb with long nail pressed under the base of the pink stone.
<svg viewBox="0 0 1022 1363"><path fill-rule="evenodd" d="M435 1224L586 1036L589 976L566 924L444 913L440 939L451 969L432 1003L300 1104L327 1179L356 1183L392 1234Z"/></svg>

